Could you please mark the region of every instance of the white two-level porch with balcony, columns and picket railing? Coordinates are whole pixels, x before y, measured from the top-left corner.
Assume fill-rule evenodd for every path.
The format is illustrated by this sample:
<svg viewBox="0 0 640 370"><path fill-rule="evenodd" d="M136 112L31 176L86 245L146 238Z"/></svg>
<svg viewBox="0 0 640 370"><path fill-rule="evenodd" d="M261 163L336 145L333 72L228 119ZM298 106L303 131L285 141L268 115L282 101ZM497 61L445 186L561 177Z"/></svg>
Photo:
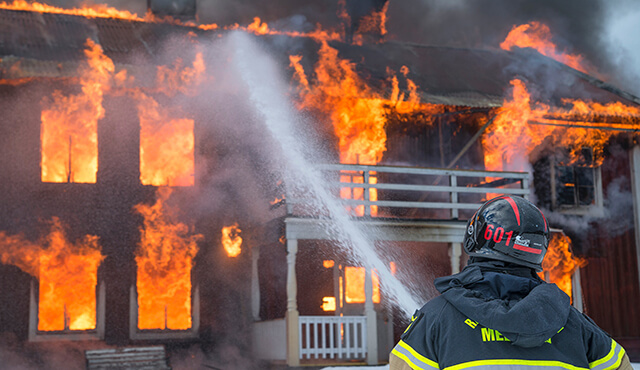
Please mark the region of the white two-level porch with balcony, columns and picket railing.
<svg viewBox="0 0 640 370"><path fill-rule="evenodd" d="M490 194L529 196L529 174L434 168L323 165L327 185L335 191L359 227L375 229L376 241L446 243L452 273L460 271L466 220ZM346 189L346 191L345 191ZM253 341L259 358L288 366L327 361L384 362L393 345L392 321L382 320L373 299L372 270L364 267L364 304L360 312L334 315L299 312L296 261L299 241L328 241L332 220L305 207L305 194L287 193L281 205L283 231L272 239L286 245L286 313L262 321L258 281L260 249L253 250ZM276 228L277 229L277 228ZM265 228L265 234L270 231ZM335 270L335 269L334 269ZM342 302L344 290L335 289ZM383 302L384 303L384 302ZM378 306L380 306L378 304Z"/></svg>

